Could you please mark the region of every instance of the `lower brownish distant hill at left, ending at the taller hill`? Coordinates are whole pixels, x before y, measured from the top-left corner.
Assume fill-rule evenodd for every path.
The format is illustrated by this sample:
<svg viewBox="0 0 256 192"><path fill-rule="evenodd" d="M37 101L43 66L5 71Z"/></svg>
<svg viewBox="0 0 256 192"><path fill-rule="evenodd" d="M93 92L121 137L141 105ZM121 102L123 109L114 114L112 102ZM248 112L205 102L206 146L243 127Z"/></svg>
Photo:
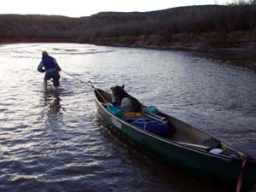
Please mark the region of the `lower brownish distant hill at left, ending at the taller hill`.
<svg viewBox="0 0 256 192"><path fill-rule="evenodd" d="M87 18L55 15L0 15L0 40L4 41L75 41L81 31L74 30Z"/></svg>

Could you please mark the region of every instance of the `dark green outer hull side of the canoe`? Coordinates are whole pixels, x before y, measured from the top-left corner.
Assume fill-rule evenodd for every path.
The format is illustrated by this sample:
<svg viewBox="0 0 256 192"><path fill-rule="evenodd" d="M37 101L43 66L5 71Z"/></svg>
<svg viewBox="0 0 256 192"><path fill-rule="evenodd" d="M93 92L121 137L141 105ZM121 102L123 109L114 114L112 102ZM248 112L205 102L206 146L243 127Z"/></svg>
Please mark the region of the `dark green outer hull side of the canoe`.
<svg viewBox="0 0 256 192"><path fill-rule="evenodd" d="M123 137L135 143L137 147L195 177L207 178L210 182L236 189L237 179L241 172L241 160L234 161L230 158L172 143L113 116L97 99L96 106L100 118ZM255 161L248 161L244 170L243 191L253 189L255 183L256 164Z"/></svg>

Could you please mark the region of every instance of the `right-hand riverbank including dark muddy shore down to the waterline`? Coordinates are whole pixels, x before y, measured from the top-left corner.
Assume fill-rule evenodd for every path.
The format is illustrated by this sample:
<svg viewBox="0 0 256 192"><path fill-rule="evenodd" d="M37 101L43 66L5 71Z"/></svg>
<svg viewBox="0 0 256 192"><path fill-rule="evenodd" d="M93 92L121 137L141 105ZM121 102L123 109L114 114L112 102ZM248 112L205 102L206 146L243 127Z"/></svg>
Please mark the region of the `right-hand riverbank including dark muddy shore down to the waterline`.
<svg viewBox="0 0 256 192"><path fill-rule="evenodd" d="M256 72L256 30L253 32L178 33L166 41L161 36L97 38L89 44L191 51L196 56L224 61Z"/></svg>

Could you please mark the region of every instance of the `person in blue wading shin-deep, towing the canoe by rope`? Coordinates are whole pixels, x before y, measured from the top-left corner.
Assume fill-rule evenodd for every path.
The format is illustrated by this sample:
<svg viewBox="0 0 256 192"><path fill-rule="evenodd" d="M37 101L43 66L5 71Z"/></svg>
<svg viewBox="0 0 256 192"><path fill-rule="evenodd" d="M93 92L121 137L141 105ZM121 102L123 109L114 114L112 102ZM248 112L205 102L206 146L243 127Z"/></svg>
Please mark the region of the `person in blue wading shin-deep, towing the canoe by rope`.
<svg viewBox="0 0 256 192"><path fill-rule="evenodd" d="M59 67L54 57L48 55L46 51L42 52L42 61L38 65L38 72L44 73L44 90L47 91L47 82L53 79L55 90L59 90L61 67Z"/></svg>

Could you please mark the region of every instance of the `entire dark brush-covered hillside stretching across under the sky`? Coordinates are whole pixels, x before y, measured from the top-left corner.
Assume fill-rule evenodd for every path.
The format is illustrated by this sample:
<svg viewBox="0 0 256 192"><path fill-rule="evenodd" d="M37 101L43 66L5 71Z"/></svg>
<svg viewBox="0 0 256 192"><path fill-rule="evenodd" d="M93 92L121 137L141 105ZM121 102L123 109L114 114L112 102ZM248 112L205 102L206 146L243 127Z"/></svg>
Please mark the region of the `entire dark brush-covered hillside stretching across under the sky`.
<svg viewBox="0 0 256 192"><path fill-rule="evenodd" d="M141 47L256 42L256 6L190 6L90 17L0 15L0 41L53 41Z"/></svg>

